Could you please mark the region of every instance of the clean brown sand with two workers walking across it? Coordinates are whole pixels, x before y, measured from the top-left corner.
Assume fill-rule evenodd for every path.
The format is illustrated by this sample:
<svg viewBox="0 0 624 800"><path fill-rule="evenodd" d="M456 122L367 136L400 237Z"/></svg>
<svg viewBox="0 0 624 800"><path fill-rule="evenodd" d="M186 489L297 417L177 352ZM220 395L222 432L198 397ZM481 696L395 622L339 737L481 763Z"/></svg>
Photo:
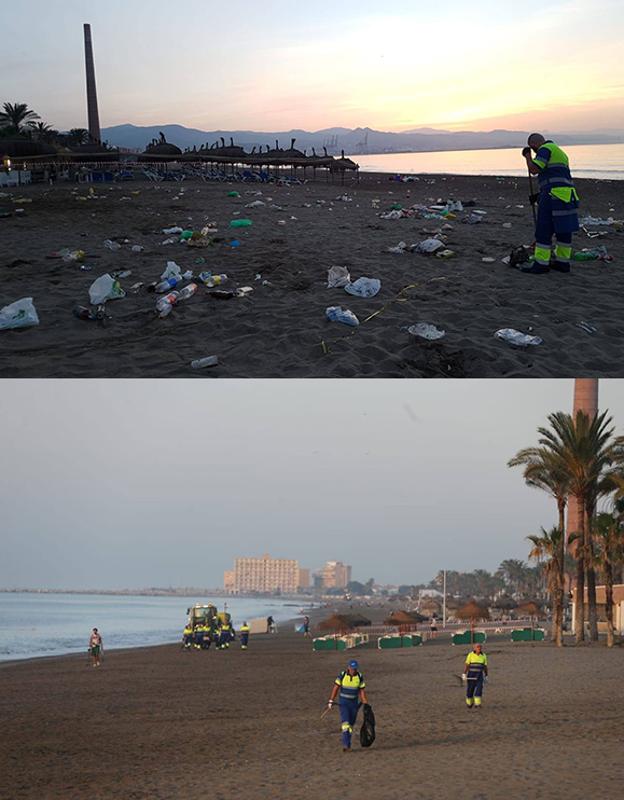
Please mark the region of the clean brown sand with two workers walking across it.
<svg viewBox="0 0 624 800"><path fill-rule="evenodd" d="M177 645L0 668L5 800L605 800L621 793L623 652L486 647L490 683L468 712L449 640L358 649L378 738L340 746L320 719L344 654L286 630L248 651ZM480 714L479 717L474 715Z"/></svg>

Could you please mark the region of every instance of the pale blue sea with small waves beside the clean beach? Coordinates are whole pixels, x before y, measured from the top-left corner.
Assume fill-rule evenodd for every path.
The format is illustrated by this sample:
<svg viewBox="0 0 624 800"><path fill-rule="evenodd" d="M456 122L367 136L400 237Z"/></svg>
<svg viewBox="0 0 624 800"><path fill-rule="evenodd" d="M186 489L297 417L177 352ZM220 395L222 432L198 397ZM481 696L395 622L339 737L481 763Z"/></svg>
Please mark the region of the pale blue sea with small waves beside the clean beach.
<svg viewBox="0 0 624 800"><path fill-rule="evenodd" d="M227 602L234 626L269 614L296 617L293 601L248 598L130 597L112 595L0 593L0 661L85 653L91 628L99 628L104 650L179 641L186 610L194 603Z"/></svg>

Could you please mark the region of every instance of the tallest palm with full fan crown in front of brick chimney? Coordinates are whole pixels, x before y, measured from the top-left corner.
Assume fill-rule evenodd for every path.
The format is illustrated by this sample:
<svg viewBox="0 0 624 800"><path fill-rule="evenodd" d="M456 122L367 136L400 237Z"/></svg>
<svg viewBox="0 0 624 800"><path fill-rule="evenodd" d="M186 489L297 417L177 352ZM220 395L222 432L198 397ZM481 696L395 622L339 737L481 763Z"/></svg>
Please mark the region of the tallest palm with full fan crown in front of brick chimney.
<svg viewBox="0 0 624 800"><path fill-rule="evenodd" d="M580 534L579 564L576 587L575 635L577 642L584 639L584 578L587 579L587 605L589 634L592 641L598 639L598 616L596 613L596 575L593 563L591 519L597 499L604 490L613 465L619 467L624 459L621 438L614 437L612 418L604 412L590 417L579 411L576 417L563 412L548 417L550 428L538 428L540 445L545 447L558 464L568 473L570 493L581 509L582 530Z"/></svg>

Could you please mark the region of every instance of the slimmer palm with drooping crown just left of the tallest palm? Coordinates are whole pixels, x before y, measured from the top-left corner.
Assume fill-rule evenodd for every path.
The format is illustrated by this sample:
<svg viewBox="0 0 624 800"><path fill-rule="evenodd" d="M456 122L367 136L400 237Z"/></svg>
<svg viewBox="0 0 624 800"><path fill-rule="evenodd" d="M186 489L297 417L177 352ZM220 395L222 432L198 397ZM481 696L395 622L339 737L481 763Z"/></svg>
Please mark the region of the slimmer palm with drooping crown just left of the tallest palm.
<svg viewBox="0 0 624 800"><path fill-rule="evenodd" d="M508 462L508 467L524 467L524 480L528 486L541 489L555 499L557 503L557 514L559 517L558 529L565 531L565 509L570 494L570 476L568 471L561 464L561 460L556 458L552 452L545 447L527 447L520 450ZM554 529L553 529L554 530ZM560 575L557 591L558 597L554 599L554 605L560 609L559 616L555 617L555 642L557 647L563 646L563 599L565 586L565 535L558 538L560 552L557 554L557 564L559 565ZM583 563L581 572L583 572Z"/></svg>

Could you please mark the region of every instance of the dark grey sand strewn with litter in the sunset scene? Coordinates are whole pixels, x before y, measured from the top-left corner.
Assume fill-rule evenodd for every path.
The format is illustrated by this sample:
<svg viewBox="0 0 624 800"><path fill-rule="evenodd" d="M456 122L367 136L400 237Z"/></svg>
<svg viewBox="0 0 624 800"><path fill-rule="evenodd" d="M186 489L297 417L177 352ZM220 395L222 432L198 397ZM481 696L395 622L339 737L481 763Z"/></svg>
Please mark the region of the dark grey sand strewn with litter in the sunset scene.
<svg viewBox="0 0 624 800"><path fill-rule="evenodd" d="M582 213L624 216L623 184L578 181ZM530 244L533 229L527 181L517 178L422 177L391 183L363 174L359 184L322 181L301 186L134 182L33 186L5 193L0 207L24 213L0 220L0 306L32 296L40 325L0 333L2 377L565 377L622 374L624 234L613 227L599 239L584 233L577 248L606 245L612 263L573 266L571 275L522 274L501 263L512 247ZM228 197L228 192L240 197ZM262 194L258 194L262 192ZM133 194L134 193L134 194ZM342 194L348 201L336 200ZM475 200L482 224L452 220L444 260L388 253L400 241L420 242L439 220L380 219L394 204ZM263 206L247 208L262 201ZM373 201L379 201L374 203ZM519 208L518 206L524 206ZM230 221L249 218L249 228ZM296 219L294 219L296 218ZM207 248L163 245L169 226L218 227ZM503 227L511 224L511 227ZM231 247L236 237L238 247ZM122 243L112 252L103 242ZM126 241L127 240L127 241ZM131 247L144 250L133 253ZM84 264L50 258L62 248L82 249ZM483 258L493 257L493 263ZM204 259L197 264L196 259ZM244 297L215 299L203 286L166 319L154 314L157 297L146 290L168 260L197 275L226 273L225 288L251 287ZM327 271L347 266L352 280L379 278L380 293L352 297L327 288ZM109 302L105 325L72 315L88 305L99 275L131 270L128 292ZM259 277L260 276L260 277ZM136 293L131 287L143 283ZM357 329L329 323L325 309L342 305L361 321ZM380 312L381 313L376 313ZM375 316L373 316L375 315ZM406 328L428 322L446 331L425 342ZM590 323L593 333L579 327ZM538 347L516 349L494 338L501 328L540 336ZM325 343L323 346L322 343ZM195 371L194 359L217 355L219 366Z"/></svg>

